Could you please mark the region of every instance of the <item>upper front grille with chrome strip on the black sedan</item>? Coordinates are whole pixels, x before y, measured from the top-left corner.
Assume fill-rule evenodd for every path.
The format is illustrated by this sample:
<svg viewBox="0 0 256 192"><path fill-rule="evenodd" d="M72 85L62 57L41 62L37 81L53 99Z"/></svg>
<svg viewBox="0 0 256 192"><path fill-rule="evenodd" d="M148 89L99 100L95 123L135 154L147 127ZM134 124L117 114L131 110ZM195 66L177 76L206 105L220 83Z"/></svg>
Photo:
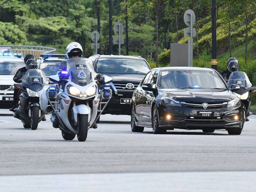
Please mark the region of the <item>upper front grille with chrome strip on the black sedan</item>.
<svg viewBox="0 0 256 192"><path fill-rule="evenodd" d="M197 109L204 109L203 104L204 102L180 102L183 107L187 108L197 108ZM208 106L207 109L219 109L219 108L226 108L227 102L207 102Z"/></svg>

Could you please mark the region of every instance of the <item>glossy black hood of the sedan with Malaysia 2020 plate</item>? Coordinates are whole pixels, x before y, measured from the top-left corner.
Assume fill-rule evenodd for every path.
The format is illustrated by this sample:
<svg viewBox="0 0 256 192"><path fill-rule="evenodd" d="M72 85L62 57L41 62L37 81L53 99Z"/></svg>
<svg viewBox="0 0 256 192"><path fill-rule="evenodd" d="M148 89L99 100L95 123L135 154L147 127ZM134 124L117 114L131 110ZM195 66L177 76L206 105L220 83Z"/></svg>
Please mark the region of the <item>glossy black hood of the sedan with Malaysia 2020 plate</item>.
<svg viewBox="0 0 256 192"><path fill-rule="evenodd" d="M173 97L184 102L226 102L235 97L230 90L163 89L162 91L163 96Z"/></svg>

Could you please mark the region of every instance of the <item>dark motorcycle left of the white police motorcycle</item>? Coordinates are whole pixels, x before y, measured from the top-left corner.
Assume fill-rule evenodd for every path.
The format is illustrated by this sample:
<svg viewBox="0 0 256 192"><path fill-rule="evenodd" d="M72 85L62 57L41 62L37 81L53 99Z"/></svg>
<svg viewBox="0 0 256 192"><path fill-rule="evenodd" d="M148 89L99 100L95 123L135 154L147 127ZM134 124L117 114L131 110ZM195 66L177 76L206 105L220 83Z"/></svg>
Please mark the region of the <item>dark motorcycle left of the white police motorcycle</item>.
<svg viewBox="0 0 256 192"><path fill-rule="evenodd" d="M44 118L39 97L44 85L48 83L47 77L41 70L30 69L26 72L22 83L14 84L15 88L21 91L19 107L14 110L15 117L23 122L24 128L36 130L38 123Z"/></svg>

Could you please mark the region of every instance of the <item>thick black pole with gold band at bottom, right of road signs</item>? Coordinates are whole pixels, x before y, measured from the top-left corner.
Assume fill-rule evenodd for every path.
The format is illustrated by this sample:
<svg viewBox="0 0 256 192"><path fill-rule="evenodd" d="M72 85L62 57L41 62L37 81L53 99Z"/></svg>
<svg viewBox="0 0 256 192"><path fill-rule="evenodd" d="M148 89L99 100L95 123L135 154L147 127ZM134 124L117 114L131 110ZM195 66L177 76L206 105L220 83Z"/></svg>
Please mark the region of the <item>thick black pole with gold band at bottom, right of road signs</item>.
<svg viewBox="0 0 256 192"><path fill-rule="evenodd" d="M216 0L212 0L212 69L217 70Z"/></svg>

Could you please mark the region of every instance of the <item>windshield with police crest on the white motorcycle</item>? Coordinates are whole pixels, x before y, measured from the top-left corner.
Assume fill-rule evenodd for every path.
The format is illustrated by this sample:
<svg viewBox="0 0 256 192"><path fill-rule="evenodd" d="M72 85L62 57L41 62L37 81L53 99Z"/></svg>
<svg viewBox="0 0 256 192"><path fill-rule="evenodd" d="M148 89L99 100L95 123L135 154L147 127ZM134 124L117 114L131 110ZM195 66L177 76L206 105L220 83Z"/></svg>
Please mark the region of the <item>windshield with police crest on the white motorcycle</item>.
<svg viewBox="0 0 256 192"><path fill-rule="evenodd" d="M87 58L70 58L67 60L67 70L74 83L81 86L90 84L96 77L91 60Z"/></svg>

